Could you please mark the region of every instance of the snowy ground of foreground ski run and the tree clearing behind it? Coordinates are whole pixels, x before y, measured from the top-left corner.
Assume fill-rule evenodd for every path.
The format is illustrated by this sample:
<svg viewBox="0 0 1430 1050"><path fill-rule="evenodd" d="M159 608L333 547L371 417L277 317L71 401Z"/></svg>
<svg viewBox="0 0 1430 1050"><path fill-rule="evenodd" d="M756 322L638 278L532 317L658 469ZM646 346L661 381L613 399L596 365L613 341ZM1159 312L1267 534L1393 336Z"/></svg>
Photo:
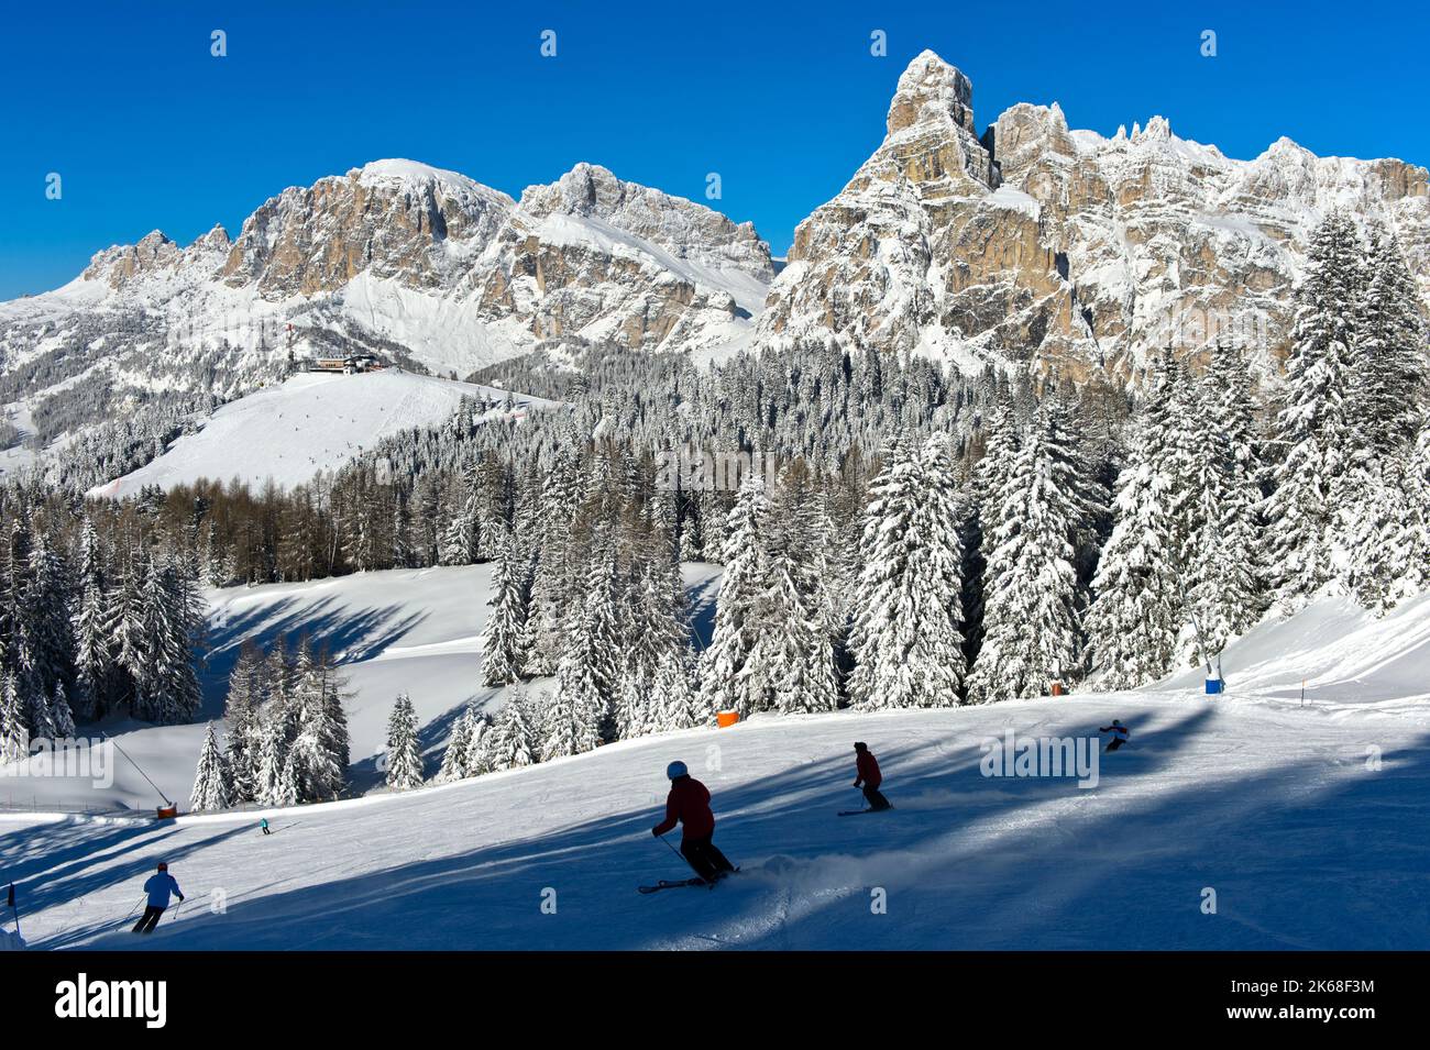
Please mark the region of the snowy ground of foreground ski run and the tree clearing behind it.
<svg viewBox="0 0 1430 1050"><path fill-rule="evenodd" d="M408 691L430 773L473 696L486 613L472 597L486 573L369 573L210 600L235 633L346 623L355 764ZM708 566L685 577L699 624L716 577ZM122 920L160 859L193 904L143 947L1413 949L1430 937L1427 639L1430 597L1383 619L1320 599L1234 641L1221 697L1191 671L1111 694L759 714L316 806L159 824L9 814L0 864L41 949L134 947ZM475 697L502 703L499 690ZM1080 737L1113 717L1131 743L1100 756L1095 787L980 773L990 737ZM200 723L119 739L182 799L203 736ZM861 803L854 740L877 751L895 811L835 816ZM715 839L742 873L711 893L644 897L638 886L686 877L649 831L676 757L709 786ZM120 777L146 806L142 781L123 780L137 774ZM260 834L260 814L275 834ZM1207 887L1217 914L1201 910ZM542 911L548 889L555 914Z"/></svg>

